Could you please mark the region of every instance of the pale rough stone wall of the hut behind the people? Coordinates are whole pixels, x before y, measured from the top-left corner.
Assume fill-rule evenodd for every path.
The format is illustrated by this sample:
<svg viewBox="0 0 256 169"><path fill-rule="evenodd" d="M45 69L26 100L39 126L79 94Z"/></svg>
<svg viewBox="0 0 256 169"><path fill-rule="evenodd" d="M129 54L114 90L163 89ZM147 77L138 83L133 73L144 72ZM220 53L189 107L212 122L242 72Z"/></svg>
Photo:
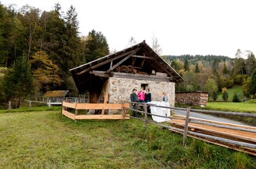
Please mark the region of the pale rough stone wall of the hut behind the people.
<svg viewBox="0 0 256 169"><path fill-rule="evenodd" d="M126 103L130 102L130 94L133 89L137 89L137 92L140 91L141 84L147 84L152 101L161 101L163 92L166 91L170 106L175 106L175 83L110 77L102 91L109 93L109 103Z"/></svg>

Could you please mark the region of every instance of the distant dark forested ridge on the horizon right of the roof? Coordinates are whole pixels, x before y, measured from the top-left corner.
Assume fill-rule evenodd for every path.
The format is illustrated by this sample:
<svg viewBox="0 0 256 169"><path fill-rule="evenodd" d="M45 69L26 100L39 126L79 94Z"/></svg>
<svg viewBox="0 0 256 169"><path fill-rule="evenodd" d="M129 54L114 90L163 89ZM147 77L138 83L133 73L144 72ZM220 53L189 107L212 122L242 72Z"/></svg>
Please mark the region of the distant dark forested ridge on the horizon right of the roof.
<svg viewBox="0 0 256 169"><path fill-rule="evenodd" d="M198 61L202 62L209 62L211 63L213 60L217 60L219 63L220 62L225 62L227 59L231 59L228 56L213 56L213 55L207 55L207 56L202 56L202 55L182 55L182 56L164 56L168 60L174 60L174 59L180 59L181 61L185 61L185 59L189 60L189 63L195 64Z"/></svg>

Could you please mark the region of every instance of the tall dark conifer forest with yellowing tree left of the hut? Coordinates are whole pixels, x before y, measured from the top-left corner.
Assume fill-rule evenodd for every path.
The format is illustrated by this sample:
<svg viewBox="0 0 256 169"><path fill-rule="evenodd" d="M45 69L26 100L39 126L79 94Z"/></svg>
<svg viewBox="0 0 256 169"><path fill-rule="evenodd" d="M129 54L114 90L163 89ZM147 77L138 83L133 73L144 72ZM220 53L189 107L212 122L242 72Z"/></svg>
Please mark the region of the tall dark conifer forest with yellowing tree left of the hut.
<svg viewBox="0 0 256 169"><path fill-rule="evenodd" d="M29 5L19 9L13 5L6 7L0 2L0 81L9 80L7 89L15 90L12 83L26 86L30 77L27 76L24 82L19 75L23 72L13 72L29 66L26 73L32 74L33 85L27 86L33 93L42 95L47 90L70 90L77 94L69 69L109 54L109 45L102 32L93 29L88 35L81 35L78 29L78 13L72 5L63 12L57 3L47 12ZM2 84L2 100L10 100L19 93L18 89L16 93L5 90ZM23 93L22 98L33 93Z"/></svg>

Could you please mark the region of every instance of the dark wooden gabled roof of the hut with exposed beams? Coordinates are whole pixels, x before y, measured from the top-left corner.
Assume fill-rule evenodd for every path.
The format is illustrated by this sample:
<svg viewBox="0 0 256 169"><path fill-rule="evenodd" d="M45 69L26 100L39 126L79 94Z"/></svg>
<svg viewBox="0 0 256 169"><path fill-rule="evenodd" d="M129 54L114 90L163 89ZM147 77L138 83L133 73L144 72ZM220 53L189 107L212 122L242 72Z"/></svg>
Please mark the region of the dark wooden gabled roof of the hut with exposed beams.
<svg viewBox="0 0 256 169"><path fill-rule="evenodd" d="M169 82L178 83L183 81L182 76L171 68L161 56L158 56L145 41L75 67L70 71L79 93L87 92L92 85L101 82L103 78L107 79L118 73L123 73L122 75L124 73L139 74L137 76L134 75L137 79L148 78L154 72L164 73L167 75Z"/></svg>

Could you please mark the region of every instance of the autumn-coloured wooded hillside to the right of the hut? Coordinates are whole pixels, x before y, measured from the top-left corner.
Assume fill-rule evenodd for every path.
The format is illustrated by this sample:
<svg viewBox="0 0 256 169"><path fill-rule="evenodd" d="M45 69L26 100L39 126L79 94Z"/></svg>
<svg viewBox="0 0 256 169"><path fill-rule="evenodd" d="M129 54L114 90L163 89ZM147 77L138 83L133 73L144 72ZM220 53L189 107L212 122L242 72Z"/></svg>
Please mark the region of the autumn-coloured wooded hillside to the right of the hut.
<svg viewBox="0 0 256 169"><path fill-rule="evenodd" d="M251 51L237 49L234 59L227 56L163 56L184 81L176 84L176 91L208 91L216 100L218 93L227 100L227 90L243 86L244 97L255 98L256 59Z"/></svg>

